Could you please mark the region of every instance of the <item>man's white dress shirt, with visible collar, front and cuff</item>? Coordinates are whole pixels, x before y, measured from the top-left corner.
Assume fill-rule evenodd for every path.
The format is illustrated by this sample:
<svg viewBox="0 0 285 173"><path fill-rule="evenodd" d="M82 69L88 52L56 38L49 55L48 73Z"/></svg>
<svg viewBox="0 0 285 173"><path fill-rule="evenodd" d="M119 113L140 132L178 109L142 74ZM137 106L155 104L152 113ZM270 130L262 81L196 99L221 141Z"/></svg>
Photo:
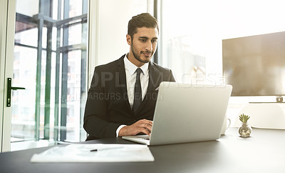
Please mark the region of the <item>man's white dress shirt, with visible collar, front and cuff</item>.
<svg viewBox="0 0 285 173"><path fill-rule="evenodd" d="M133 100L135 95L135 78L137 76L137 73L135 72L138 69L138 66L135 66L132 62L129 61L127 54L124 58L124 64L125 64L125 79L127 82L127 92L128 92L128 100L130 103L130 107L133 108ZM143 66L140 66L140 69L142 69L142 73L140 74L140 85L142 87L142 100L145 98L145 94L147 94L147 86L148 86L148 79L149 79L149 73L148 73L148 64L145 63ZM118 129L116 130L117 137L119 136L119 131L125 127L125 125L120 125Z"/></svg>

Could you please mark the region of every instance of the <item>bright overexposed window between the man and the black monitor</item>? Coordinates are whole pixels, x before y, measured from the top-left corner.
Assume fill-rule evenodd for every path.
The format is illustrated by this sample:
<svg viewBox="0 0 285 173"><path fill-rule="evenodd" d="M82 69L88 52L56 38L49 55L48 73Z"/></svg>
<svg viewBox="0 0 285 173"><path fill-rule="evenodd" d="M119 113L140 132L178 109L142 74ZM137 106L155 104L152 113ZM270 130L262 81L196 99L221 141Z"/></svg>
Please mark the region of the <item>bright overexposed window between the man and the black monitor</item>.
<svg viewBox="0 0 285 173"><path fill-rule="evenodd" d="M222 39L285 30L281 0L163 0L158 63L177 81L220 84ZM266 12L264 12L266 11Z"/></svg>

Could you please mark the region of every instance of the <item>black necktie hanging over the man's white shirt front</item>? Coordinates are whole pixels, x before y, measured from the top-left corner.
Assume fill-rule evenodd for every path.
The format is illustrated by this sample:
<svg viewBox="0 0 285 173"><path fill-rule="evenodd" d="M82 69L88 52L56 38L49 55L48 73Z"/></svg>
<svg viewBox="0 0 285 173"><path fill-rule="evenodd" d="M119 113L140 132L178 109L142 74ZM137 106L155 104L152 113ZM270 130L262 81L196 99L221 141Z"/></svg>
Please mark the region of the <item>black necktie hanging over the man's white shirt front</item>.
<svg viewBox="0 0 285 173"><path fill-rule="evenodd" d="M142 87L140 85L140 73L142 69L138 68L136 70L137 77L135 79L135 94L134 94L134 102L133 102L133 111L136 112L140 104L142 103Z"/></svg>

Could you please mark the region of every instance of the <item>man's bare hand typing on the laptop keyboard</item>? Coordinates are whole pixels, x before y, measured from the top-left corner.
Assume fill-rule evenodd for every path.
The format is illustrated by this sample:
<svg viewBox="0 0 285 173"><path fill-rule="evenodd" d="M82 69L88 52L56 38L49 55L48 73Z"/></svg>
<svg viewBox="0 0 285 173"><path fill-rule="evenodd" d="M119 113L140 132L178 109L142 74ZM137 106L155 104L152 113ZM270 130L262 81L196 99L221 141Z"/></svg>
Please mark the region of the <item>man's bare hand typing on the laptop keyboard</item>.
<svg viewBox="0 0 285 173"><path fill-rule="evenodd" d="M140 132L150 135L151 129L152 129L152 121L147 119L140 119L138 122L135 122L130 126L125 126L122 129L120 129L119 137L133 136Z"/></svg>

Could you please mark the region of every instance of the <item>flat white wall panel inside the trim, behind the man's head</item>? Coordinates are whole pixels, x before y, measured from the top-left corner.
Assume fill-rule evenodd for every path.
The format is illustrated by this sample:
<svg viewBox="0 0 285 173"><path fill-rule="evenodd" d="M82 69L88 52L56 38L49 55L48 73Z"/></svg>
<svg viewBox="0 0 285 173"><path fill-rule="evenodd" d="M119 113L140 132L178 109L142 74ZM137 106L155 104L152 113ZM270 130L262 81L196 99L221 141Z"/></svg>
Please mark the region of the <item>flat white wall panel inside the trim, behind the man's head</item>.
<svg viewBox="0 0 285 173"><path fill-rule="evenodd" d="M100 0L98 7L97 65L118 59L129 51L125 39L128 21L132 16L147 12L147 1Z"/></svg>

